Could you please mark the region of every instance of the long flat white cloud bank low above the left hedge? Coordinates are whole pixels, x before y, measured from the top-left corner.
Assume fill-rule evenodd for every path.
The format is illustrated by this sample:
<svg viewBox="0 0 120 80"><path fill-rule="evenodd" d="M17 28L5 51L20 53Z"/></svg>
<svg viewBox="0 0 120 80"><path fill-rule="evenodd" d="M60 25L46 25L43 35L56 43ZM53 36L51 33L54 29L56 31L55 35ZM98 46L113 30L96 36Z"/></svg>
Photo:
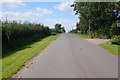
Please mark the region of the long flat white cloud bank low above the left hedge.
<svg viewBox="0 0 120 80"><path fill-rule="evenodd" d="M1 13L1 12L0 12ZM36 20L43 15L41 13L35 13L35 12L2 12L2 18L5 20L7 15L8 20L21 20L21 21L28 21L28 20ZM1 18L0 17L0 18Z"/></svg>

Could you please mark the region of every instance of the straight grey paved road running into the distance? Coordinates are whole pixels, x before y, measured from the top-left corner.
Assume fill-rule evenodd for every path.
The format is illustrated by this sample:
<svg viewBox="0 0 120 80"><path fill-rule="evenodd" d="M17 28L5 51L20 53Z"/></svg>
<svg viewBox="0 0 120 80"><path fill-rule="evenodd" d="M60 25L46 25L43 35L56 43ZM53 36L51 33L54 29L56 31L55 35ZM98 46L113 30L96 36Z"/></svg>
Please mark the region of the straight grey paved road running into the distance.
<svg viewBox="0 0 120 80"><path fill-rule="evenodd" d="M118 57L75 34L62 34L22 78L117 78Z"/></svg>

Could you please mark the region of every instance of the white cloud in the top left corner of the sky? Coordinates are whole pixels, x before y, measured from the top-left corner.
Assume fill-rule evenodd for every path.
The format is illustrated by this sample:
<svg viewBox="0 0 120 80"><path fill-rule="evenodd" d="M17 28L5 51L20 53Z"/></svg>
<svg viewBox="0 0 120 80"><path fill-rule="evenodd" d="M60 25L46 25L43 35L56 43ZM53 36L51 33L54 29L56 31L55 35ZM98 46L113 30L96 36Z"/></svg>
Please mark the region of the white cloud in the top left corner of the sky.
<svg viewBox="0 0 120 80"><path fill-rule="evenodd" d="M2 7L16 8L19 6L25 6L21 0L2 0Z"/></svg>

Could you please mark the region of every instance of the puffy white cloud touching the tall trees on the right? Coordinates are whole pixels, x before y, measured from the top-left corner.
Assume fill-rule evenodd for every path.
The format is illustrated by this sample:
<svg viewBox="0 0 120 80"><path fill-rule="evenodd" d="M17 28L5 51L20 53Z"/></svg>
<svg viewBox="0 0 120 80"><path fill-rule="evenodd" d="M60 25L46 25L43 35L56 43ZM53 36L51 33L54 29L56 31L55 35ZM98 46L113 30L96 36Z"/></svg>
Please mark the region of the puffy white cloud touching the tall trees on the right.
<svg viewBox="0 0 120 80"><path fill-rule="evenodd" d="M71 10L72 7L70 5L72 5L72 3L73 2L62 2L62 3L54 6L54 8L61 10L61 11Z"/></svg>

